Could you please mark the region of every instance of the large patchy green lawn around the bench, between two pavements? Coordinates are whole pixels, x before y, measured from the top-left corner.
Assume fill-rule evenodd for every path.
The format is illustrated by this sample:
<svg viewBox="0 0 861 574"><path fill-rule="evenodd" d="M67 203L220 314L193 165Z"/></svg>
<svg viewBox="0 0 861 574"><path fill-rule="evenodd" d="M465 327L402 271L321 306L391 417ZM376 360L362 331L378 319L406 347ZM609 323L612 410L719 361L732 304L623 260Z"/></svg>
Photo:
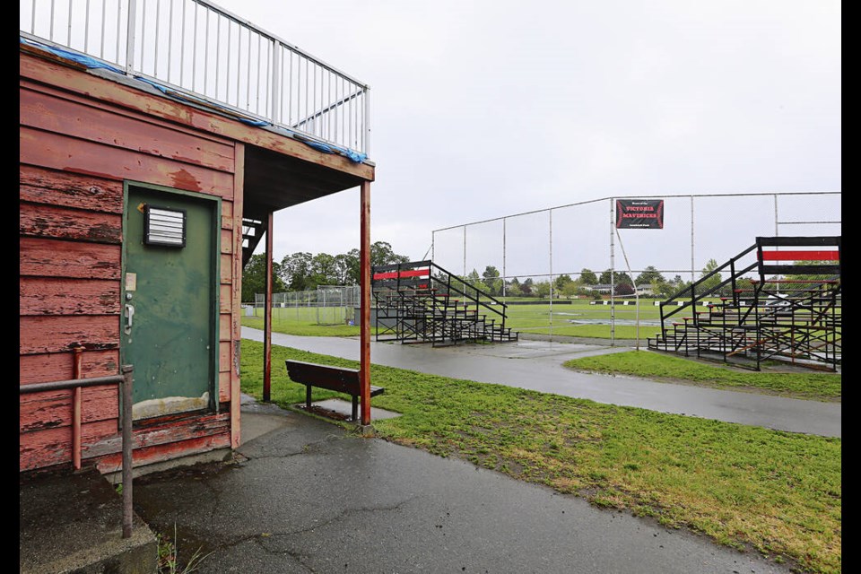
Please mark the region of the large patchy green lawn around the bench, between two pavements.
<svg viewBox="0 0 861 574"><path fill-rule="evenodd" d="M304 400L304 387L286 377L288 358L357 366L273 347L272 396L283 406ZM257 398L262 363L262 345L243 341L242 389ZM403 413L374 422L383 439L691 528L800 570L842 569L840 439L378 365L371 377L386 387L374 404ZM315 400L333 395L315 392Z"/></svg>

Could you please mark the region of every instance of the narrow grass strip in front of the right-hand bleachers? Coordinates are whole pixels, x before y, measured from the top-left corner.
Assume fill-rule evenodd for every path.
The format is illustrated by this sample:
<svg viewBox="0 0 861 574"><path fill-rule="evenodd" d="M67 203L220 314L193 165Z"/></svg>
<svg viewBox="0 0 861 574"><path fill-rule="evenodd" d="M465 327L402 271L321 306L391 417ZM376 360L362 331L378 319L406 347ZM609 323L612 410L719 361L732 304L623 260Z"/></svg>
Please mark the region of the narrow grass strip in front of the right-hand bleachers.
<svg viewBox="0 0 861 574"><path fill-rule="evenodd" d="M569 369L632 375L650 380L700 387L755 390L774 395L839 401L842 376L837 373L739 370L673 357L658 352L629 351L567 361ZM768 369L768 368L767 368ZM772 368L778 369L778 368Z"/></svg>

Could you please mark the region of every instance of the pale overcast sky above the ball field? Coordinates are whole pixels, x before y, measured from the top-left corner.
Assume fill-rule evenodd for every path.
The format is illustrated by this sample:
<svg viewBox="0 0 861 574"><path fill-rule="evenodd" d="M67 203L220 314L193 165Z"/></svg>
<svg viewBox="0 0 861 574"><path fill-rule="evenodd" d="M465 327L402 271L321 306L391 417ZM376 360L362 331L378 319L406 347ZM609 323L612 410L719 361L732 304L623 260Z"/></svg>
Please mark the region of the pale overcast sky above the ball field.
<svg viewBox="0 0 861 574"><path fill-rule="evenodd" d="M370 84L371 239L413 258L601 197L841 188L835 0L216 4ZM275 257L358 247L358 210L276 213Z"/></svg>

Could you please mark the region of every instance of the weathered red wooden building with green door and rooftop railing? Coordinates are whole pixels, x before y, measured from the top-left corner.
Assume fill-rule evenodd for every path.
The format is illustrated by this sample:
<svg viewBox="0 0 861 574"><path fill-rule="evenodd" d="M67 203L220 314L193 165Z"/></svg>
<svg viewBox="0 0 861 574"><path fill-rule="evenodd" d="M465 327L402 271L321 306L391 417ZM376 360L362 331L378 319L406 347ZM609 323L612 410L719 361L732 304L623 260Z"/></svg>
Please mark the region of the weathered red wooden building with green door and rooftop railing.
<svg viewBox="0 0 861 574"><path fill-rule="evenodd" d="M224 68L225 89L208 87L213 78L189 81L177 62L167 74L158 57L147 67L135 40L143 45L153 30L134 0L117 14L128 22L116 54L77 46L71 31L67 39L40 31L36 9L25 22L22 8L19 384L116 375L132 364L135 466L239 445L242 266L264 236L271 259L272 213L359 187L369 266L367 86L214 4L178 3L186 4L209 11L218 30L222 22L239 30L204 40L220 57L222 40L239 38L235 65L203 65L213 75ZM83 25L66 18L70 30ZM55 19L62 14L51 26ZM178 42L187 30L162 30L149 49L161 45L163 58L170 40L186 53ZM243 34L248 47L269 42L267 56L257 48L255 63L240 61ZM263 107L252 92L261 86L255 65L257 74L268 66ZM319 98L317 71L329 74ZM369 341L365 325L364 349ZM367 354L362 372L367 386ZM20 395L21 471L73 462L73 396ZM80 396L83 464L116 471L117 387Z"/></svg>

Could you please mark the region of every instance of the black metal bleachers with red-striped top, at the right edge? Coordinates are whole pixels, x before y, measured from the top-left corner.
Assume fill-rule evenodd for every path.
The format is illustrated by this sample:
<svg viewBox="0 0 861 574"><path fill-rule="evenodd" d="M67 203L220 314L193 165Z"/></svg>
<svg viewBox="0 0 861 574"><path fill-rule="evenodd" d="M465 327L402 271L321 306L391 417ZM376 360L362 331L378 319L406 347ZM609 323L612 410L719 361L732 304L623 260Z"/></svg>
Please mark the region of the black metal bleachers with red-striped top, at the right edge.
<svg viewBox="0 0 861 574"><path fill-rule="evenodd" d="M661 332L648 339L648 347L719 358L756 370L762 361L838 370L842 363L840 243L839 237L757 238L751 248L662 302ZM759 277L745 280L753 270ZM724 271L729 272L728 279L702 288ZM785 274L810 275L810 279L773 277ZM716 297L727 287L732 296ZM696 310L698 302L707 299L712 302L705 310ZM685 309L688 315L674 317Z"/></svg>

